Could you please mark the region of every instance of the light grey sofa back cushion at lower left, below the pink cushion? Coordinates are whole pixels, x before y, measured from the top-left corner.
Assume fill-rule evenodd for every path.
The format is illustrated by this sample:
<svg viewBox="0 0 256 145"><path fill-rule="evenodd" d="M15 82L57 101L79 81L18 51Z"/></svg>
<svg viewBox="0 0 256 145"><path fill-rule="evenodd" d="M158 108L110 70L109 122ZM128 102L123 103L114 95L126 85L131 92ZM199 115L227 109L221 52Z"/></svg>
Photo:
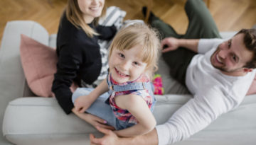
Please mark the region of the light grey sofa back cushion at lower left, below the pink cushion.
<svg viewBox="0 0 256 145"><path fill-rule="evenodd" d="M96 129L73 113L66 115L55 98L17 98L6 108L3 134L14 144L90 144Z"/></svg>

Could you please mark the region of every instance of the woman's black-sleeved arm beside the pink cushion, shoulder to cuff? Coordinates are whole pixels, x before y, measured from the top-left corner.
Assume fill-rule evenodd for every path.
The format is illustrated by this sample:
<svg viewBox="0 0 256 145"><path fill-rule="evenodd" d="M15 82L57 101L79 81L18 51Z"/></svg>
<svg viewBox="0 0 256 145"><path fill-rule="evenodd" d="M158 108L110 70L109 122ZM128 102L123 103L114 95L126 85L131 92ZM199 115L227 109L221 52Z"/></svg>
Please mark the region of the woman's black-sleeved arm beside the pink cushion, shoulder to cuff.
<svg viewBox="0 0 256 145"><path fill-rule="evenodd" d="M78 75L78 69L82 63L82 53L80 47L71 40L74 37L75 26L73 26L65 17L60 20L57 35L57 54L58 64L57 72L54 74L52 91L61 108L66 114L72 112L74 108L72 102L72 91L70 86ZM71 35L72 34L72 35Z"/></svg>

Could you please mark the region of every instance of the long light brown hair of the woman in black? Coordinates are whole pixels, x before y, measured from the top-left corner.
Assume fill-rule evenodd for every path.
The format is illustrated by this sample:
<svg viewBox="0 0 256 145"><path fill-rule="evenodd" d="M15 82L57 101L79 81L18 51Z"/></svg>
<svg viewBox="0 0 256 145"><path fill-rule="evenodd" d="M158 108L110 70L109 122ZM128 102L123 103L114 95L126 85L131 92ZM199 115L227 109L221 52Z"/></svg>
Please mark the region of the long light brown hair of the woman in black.
<svg viewBox="0 0 256 145"><path fill-rule="evenodd" d="M105 15L106 9L107 9L107 6L105 4L102 9L102 16ZM70 23L75 25L76 28L82 28L82 30L84 30L89 37L93 37L93 35L99 35L97 32L95 32L95 30L90 28L90 26L87 25L87 23L85 23L82 17L82 11L78 6L78 0L68 0L68 5L66 6L65 12L63 14L66 15ZM95 18L95 21L94 21L95 25L98 24L99 19L100 18Z"/></svg>

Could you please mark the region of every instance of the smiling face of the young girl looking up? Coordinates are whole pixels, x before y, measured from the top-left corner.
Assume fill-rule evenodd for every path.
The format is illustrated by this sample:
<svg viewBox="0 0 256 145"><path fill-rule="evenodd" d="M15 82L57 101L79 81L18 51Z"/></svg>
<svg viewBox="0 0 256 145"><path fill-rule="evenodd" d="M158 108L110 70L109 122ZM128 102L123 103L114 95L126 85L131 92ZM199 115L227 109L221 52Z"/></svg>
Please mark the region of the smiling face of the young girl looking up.
<svg viewBox="0 0 256 145"><path fill-rule="evenodd" d="M146 63L142 62L141 46L137 45L129 50L117 50L114 48L110 56L110 73L114 81L124 83L134 81L144 73Z"/></svg>

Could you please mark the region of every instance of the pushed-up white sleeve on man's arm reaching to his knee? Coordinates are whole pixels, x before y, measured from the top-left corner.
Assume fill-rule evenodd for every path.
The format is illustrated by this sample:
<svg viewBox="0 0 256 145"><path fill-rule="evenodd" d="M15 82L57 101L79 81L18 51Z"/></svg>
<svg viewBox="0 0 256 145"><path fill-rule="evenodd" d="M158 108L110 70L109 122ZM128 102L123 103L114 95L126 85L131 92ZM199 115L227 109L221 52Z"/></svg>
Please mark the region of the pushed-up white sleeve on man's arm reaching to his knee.
<svg viewBox="0 0 256 145"><path fill-rule="evenodd" d="M219 38L200 39L198 42L198 53L205 54L213 47L217 47L218 45L220 45L221 42L223 42L223 40Z"/></svg>

